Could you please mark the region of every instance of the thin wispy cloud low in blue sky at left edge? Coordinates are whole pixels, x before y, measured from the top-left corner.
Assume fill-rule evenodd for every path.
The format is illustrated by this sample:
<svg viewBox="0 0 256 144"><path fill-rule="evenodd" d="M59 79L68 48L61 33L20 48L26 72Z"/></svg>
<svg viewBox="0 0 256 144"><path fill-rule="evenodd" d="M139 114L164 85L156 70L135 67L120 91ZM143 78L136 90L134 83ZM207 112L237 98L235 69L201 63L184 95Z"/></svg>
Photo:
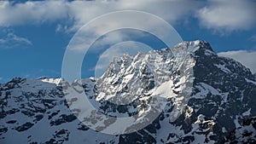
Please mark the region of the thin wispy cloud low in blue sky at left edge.
<svg viewBox="0 0 256 144"><path fill-rule="evenodd" d="M20 46L27 47L32 45L30 40L15 35L11 30L2 31L0 34L0 49L16 48Z"/></svg>

